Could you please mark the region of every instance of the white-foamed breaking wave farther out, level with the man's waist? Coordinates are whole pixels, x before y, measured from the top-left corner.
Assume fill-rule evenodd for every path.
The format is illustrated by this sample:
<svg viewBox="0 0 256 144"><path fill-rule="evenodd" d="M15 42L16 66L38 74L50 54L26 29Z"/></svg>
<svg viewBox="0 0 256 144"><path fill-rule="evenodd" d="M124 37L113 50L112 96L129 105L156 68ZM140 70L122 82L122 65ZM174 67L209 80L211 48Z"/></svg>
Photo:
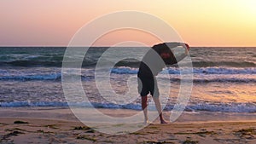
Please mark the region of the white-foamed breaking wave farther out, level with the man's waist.
<svg viewBox="0 0 256 144"><path fill-rule="evenodd" d="M30 69L22 70L19 69L10 69L4 70L0 69L0 80L21 80L21 81L30 81L30 80L61 80L61 70L42 70L40 69ZM82 81L88 81L94 79L94 70L93 69L83 69L81 75L76 76L80 77ZM137 68L131 67L114 67L111 70L111 77L118 78L114 75L136 75L138 72ZM170 75L168 75L170 74ZM163 72L157 76L158 78L170 78L171 81L180 81L179 78L180 71L178 68L169 67L166 68ZM194 68L194 83L211 83L211 82L237 82L237 83L247 83L247 82L256 82L255 74L256 68L224 68L224 67L207 67L207 68ZM66 76L69 76L67 73ZM73 75L70 75L73 77ZM119 80L119 79L116 79Z"/></svg>

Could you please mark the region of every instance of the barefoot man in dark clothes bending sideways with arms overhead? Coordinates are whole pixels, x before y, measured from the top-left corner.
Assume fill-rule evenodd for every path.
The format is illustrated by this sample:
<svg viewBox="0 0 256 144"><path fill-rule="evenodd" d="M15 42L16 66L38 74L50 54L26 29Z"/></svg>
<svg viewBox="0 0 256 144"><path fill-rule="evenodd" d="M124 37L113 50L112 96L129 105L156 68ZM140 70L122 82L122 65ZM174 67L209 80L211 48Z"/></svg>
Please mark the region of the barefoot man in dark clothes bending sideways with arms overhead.
<svg viewBox="0 0 256 144"><path fill-rule="evenodd" d="M181 55L173 55L170 48L182 46L185 51ZM142 97L142 108L144 112L144 122L148 123L148 97L153 96L154 104L159 112L160 124L167 124L166 120L162 116L162 109L159 99L159 89L155 76L162 71L166 65L176 64L188 55L189 45L186 43L160 43L154 45L152 49L148 50L148 53L144 55L143 60L139 66L137 73L138 77L138 92Z"/></svg>

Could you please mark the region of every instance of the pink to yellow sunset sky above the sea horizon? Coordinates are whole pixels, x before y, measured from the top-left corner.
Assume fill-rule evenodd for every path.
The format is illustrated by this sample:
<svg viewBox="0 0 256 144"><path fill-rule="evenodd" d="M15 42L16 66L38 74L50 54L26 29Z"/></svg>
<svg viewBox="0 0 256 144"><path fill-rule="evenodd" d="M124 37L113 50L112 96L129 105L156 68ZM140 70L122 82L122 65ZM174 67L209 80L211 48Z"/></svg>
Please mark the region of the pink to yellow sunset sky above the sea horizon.
<svg viewBox="0 0 256 144"><path fill-rule="evenodd" d="M135 10L166 21L190 46L255 47L255 7L255 0L1 0L0 46L67 46L89 21ZM138 38L132 40L154 42L146 33L125 30L96 44L110 45L120 36L125 41L135 35Z"/></svg>

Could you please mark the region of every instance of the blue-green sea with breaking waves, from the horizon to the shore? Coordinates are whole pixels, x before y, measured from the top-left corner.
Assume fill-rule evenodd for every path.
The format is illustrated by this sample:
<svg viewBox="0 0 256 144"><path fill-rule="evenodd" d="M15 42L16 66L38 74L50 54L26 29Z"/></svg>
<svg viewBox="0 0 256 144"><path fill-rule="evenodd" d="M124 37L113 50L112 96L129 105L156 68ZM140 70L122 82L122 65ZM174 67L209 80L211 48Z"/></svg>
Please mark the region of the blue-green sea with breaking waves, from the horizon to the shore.
<svg viewBox="0 0 256 144"><path fill-rule="evenodd" d="M69 107L61 84L61 66L66 49L1 47L0 107ZM98 89L104 88L96 87L95 68L107 49L90 48L84 56L80 77L90 102L97 108L141 110L137 89L130 89L137 100L125 105L108 101L99 93ZM256 112L256 48L192 47L189 54L194 77L185 112ZM127 79L137 77L138 65L138 60L126 59L112 68L110 84L117 94L122 95L129 90ZM171 111L180 88L180 72L177 66L167 66L162 73L169 76L172 84L165 107L165 111ZM165 89L160 87L160 90ZM71 105L87 107L84 101Z"/></svg>

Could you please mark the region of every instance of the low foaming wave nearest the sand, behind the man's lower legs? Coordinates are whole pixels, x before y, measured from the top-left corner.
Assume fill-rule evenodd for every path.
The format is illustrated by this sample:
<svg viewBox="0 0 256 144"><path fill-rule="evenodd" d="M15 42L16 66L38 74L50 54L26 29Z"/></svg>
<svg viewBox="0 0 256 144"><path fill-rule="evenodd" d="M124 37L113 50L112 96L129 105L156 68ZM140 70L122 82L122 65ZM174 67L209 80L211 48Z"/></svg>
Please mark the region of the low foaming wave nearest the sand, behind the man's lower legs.
<svg viewBox="0 0 256 144"><path fill-rule="evenodd" d="M96 107L141 110L140 104L118 105L113 103L99 102L69 102L66 101L11 101L0 102L0 107ZM165 111L172 111L174 105L167 104ZM149 107L150 108L150 107ZM152 107L153 108L153 107ZM247 103L194 103L185 107L188 112L256 112L256 104Z"/></svg>

